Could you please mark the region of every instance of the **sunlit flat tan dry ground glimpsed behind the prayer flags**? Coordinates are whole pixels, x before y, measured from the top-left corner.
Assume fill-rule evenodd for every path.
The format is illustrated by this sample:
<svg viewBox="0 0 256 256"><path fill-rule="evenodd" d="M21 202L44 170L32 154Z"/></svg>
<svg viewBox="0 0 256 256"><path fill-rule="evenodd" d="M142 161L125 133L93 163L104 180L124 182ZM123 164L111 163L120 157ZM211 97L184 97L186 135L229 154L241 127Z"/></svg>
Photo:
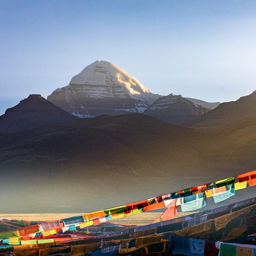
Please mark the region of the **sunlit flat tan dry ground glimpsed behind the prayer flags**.
<svg viewBox="0 0 256 256"><path fill-rule="evenodd" d="M128 217L114 220L119 224L130 225L146 225L156 220L163 212L142 212L140 214L131 215ZM178 212L176 217L188 215L192 212ZM84 213L20 213L20 214L0 214L0 218L11 218L15 220L38 220L38 221L52 221L61 220L68 217L82 215Z"/></svg>

